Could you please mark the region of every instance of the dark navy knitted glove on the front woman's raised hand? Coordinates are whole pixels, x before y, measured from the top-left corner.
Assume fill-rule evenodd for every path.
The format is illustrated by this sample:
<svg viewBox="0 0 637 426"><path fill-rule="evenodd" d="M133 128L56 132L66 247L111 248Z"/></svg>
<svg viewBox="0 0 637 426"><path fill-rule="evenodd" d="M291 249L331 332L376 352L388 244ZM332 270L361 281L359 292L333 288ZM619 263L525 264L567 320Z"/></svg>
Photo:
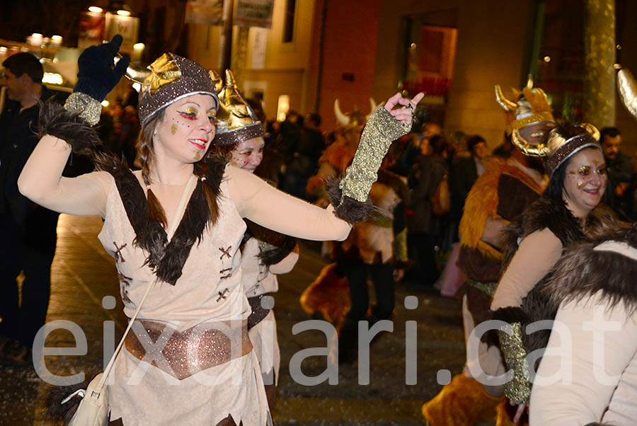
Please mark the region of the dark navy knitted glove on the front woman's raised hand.
<svg viewBox="0 0 637 426"><path fill-rule="evenodd" d="M113 67L113 57L120 50L122 40L122 36L117 34L110 42L88 47L82 52L77 61L79 72L74 92L85 93L100 102L106 98L130 63L130 58L124 57Z"/></svg>

